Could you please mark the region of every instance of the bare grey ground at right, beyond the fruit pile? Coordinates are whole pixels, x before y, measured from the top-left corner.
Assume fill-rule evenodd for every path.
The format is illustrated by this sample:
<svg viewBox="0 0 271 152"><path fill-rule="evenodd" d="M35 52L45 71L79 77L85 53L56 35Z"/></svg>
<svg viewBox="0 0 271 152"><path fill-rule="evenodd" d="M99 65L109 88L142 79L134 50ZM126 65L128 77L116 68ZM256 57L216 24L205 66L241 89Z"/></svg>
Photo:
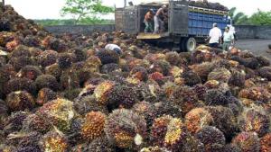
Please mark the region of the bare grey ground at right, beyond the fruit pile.
<svg viewBox="0 0 271 152"><path fill-rule="evenodd" d="M250 50L258 56L265 56L271 60L271 53L266 52L269 44L271 40L238 40L236 46L241 50Z"/></svg>

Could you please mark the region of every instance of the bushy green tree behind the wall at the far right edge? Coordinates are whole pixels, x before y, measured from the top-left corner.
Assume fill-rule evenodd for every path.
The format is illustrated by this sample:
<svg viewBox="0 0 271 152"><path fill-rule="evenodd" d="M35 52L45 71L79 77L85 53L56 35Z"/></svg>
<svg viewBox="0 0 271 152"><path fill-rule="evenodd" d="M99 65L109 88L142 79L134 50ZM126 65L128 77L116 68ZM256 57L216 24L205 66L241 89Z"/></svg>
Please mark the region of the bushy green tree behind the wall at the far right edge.
<svg viewBox="0 0 271 152"><path fill-rule="evenodd" d="M263 12L258 10L257 13L251 15L249 22L253 25L271 25L271 11Z"/></svg>

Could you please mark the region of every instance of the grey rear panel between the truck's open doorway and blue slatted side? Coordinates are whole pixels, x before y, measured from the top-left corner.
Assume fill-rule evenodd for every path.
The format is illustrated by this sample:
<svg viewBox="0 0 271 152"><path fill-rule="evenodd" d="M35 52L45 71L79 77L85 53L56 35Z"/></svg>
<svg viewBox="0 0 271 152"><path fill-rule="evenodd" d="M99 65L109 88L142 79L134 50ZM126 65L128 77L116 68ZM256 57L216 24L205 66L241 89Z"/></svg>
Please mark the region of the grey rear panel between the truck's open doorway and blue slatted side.
<svg viewBox="0 0 271 152"><path fill-rule="evenodd" d="M188 1L170 1L169 31L173 34L188 34Z"/></svg>

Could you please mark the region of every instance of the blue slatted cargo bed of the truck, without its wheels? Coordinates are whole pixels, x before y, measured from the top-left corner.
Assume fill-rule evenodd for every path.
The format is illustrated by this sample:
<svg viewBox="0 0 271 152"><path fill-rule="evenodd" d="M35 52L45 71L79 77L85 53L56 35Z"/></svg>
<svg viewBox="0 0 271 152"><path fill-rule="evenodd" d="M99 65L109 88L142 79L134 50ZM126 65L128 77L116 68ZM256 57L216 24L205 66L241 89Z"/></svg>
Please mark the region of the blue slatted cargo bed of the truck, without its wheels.
<svg viewBox="0 0 271 152"><path fill-rule="evenodd" d="M145 13L160 5L139 4L116 10L116 29L138 34L137 39L161 39L171 35L203 38L209 35L214 22L223 31L230 23L227 11L188 5L188 1L169 1L169 32L161 34L143 33Z"/></svg>

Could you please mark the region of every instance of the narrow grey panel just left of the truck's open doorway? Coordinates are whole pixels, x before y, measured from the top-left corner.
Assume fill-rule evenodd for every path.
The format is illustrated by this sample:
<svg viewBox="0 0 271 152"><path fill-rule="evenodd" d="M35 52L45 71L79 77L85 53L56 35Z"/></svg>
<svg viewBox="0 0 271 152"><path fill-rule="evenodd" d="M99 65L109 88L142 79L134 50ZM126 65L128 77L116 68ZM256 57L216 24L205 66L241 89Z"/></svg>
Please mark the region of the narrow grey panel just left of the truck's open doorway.
<svg viewBox="0 0 271 152"><path fill-rule="evenodd" d="M126 7L124 11L124 31L127 33L136 33L137 29L137 14L136 7Z"/></svg>

